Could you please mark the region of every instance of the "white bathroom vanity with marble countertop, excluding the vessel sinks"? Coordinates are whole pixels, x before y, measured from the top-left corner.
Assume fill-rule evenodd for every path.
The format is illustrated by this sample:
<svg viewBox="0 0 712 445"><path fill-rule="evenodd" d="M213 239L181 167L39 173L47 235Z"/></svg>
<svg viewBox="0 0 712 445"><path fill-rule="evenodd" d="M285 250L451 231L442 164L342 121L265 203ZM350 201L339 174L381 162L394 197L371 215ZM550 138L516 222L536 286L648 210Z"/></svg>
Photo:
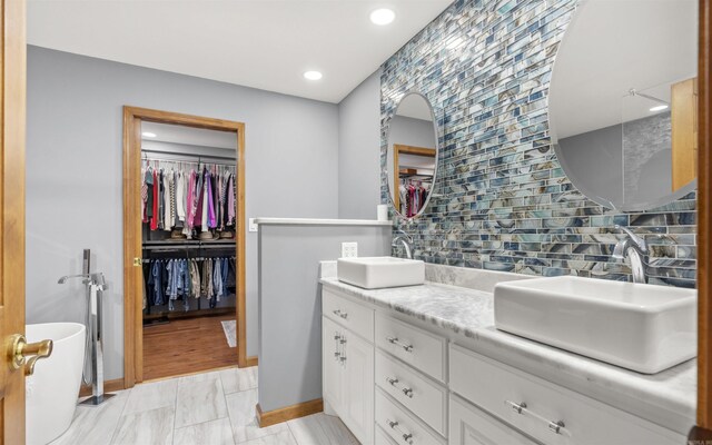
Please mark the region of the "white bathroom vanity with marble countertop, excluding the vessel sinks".
<svg viewBox="0 0 712 445"><path fill-rule="evenodd" d="M325 412L363 444L681 444L694 424L694 360L644 375L497 330L492 291L320 283Z"/></svg>

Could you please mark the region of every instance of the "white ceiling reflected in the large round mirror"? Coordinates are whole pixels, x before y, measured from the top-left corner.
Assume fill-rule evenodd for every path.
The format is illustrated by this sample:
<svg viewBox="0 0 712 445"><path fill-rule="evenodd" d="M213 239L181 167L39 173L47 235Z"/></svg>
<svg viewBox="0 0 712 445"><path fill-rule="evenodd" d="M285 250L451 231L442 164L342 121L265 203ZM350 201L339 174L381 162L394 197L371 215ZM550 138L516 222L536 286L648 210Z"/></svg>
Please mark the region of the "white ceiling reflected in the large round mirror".
<svg viewBox="0 0 712 445"><path fill-rule="evenodd" d="M550 90L554 140L653 115L694 77L698 0L586 0L562 41ZM669 111L669 110L668 110Z"/></svg>

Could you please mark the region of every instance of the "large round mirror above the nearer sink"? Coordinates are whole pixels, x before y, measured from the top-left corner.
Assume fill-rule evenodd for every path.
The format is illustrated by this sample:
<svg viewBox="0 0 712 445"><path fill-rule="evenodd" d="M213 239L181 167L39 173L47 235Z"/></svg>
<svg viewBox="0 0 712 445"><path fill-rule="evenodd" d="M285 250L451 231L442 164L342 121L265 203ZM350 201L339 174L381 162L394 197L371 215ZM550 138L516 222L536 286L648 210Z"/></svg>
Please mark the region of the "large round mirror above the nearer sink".
<svg viewBox="0 0 712 445"><path fill-rule="evenodd" d="M552 142L573 185L619 210L695 188L696 0L586 0L556 55Z"/></svg>

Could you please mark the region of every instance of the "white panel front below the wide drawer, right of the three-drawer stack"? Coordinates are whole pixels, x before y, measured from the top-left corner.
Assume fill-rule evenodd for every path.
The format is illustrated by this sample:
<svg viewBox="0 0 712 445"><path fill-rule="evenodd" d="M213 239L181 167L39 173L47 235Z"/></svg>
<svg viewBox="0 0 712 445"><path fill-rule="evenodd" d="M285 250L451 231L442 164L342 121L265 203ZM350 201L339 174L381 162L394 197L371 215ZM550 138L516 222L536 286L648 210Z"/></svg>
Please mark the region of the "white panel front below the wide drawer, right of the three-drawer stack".
<svg viewBox="0 0 712 445"><path fill-rule="evenodd" d="M449 445L536 444L455 395L449 399Z"/></svg>

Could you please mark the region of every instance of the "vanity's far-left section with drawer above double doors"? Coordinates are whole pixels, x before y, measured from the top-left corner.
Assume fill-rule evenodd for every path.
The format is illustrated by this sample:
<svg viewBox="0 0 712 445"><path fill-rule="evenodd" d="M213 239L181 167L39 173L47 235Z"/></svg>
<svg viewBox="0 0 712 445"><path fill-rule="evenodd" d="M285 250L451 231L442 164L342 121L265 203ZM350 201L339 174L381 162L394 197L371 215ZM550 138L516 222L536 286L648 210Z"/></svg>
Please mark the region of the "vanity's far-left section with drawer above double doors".
<svg viewBox="0 0 712 445"><path fill-rule="evenodd" d="M328 291L322 308L324 402L362 444L372 444L374 310Z"/></svg>

